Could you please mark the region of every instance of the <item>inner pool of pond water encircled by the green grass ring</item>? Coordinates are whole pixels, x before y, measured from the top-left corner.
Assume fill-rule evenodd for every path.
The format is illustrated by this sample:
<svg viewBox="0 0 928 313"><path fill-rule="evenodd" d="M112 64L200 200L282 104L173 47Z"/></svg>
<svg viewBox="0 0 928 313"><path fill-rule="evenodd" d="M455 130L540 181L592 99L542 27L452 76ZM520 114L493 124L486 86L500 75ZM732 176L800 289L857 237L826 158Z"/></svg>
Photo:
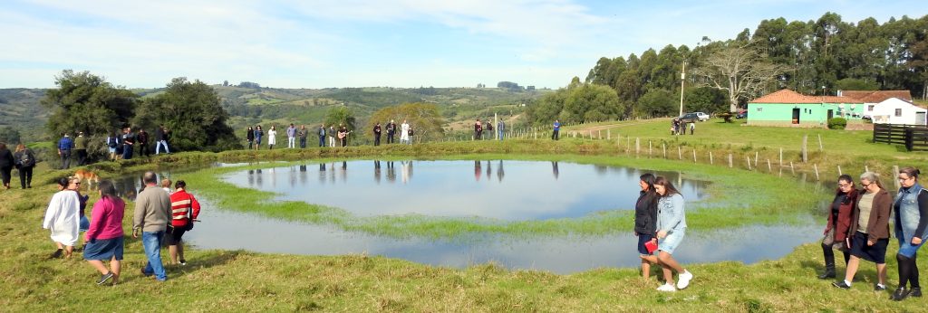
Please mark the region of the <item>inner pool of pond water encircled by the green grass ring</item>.
<svg viewBox="0 0 928 313"><path fill-rule="evenodd" d="M357 216L419 214L501 220L579 218L631 209L638 199L638 169L564 162L344 161L225 175L238 187L340 207ZM704 197L708 182L659 172L689 201Z"/></svg>

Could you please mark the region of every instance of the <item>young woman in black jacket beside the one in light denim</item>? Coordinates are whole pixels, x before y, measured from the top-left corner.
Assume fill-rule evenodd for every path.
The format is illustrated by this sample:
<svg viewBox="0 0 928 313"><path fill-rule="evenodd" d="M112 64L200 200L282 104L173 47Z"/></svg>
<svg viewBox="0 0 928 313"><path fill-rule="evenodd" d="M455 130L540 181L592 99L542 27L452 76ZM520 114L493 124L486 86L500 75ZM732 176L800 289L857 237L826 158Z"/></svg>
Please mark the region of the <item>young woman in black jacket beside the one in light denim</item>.
<svg viewBox="0 0 928 313"><path fill-rule="evenodd" d="M638 257L641 257L641 276L651 277L651 264L657 264L657 257L648 251L646 244L657 244L657 193L654 192L654 174L641 175L638 185L641 193L635 203L635 236L638 236Z"/></svg>

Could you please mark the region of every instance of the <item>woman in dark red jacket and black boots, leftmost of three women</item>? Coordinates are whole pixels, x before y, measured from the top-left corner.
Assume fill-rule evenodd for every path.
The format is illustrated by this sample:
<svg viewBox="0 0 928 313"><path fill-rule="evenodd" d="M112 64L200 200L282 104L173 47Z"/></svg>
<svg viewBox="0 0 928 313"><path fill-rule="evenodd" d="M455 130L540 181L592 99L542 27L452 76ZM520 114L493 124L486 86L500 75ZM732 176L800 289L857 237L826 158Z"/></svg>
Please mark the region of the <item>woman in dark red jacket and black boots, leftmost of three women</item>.
<svg viewBox="0 0 928 313"><path fill-rule="evenodd" d="M828 225L825 226L825 238L821 241L821 250L825 255L825 271L818 275L818 279L835 278L834 249L841 250L844 254L844 264L851 258L847 239L851 228L851 213L856 202L857 189L854 189L854 179L847 174L841 175L838 177L838 190L828 209Z"/></svg>

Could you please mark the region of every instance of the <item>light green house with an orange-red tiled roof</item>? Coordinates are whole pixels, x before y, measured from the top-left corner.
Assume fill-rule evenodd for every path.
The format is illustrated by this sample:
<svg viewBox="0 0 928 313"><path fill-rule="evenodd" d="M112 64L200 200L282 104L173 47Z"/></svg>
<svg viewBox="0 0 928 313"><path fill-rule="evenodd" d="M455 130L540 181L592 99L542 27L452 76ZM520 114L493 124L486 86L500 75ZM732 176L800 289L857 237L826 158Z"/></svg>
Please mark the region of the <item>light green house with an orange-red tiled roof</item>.
<svg viewBox="0 0 928 313"><path fill-rule="evenodd" d="M747 124L764 126L826 127L828 119L860 119L864 102L849 96L806 95L789 89L748 102Z"/></svg>

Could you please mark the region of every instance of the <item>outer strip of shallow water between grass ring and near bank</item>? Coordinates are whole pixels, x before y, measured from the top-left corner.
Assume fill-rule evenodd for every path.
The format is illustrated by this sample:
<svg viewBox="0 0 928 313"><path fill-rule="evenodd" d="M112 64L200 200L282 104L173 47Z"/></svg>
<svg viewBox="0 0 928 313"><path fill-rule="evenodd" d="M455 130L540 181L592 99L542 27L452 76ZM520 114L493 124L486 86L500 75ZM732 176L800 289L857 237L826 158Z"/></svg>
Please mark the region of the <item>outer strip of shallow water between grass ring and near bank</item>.
<svg viewBox="0 0 928 313"><path fill-rule="evenodd" d="M206 249L322 256L368 254L456 268L494 261L509 269L542 269L557 273L601 267L632 268L639 264L637 238L630 232L601 237L532 239L493 235L445 242L342 232L221 209L204 209L200 219L203 222L184 238ZM240 232L242 229L254 232ZM752 239L741 240L743 233L752 233ZM720 232L689 230L684 244L674 255L686 264L728 260L750 264L783 257L791 253L794 246L815 241L819 233L820 225L750 226Z"/></svg>

